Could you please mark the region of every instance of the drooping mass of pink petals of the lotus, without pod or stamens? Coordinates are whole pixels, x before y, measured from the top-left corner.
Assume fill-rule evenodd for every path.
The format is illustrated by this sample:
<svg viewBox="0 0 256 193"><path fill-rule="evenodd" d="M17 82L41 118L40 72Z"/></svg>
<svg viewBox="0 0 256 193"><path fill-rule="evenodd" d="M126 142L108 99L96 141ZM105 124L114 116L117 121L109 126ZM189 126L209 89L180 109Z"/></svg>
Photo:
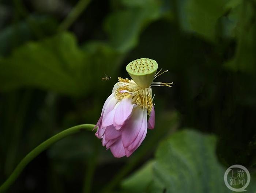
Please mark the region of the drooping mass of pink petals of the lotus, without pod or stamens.
<svg viewBox="0 0 256 193"><path fill-rule="evenodd" d="M112 94L105 101L101 116L95 126L95 135L102 139L102 145L110 151L114 157L129 157L143 142L147 134L147 127L153 129L155 125L154 107L147 122L147 109L142 109L132 104L133 92L120 89L121 93L129 93L128 97L118 101L115 96L117 88L126 86L128 81L118 81L114 85ZM95 129L94 128L94 129Z"/></svg>

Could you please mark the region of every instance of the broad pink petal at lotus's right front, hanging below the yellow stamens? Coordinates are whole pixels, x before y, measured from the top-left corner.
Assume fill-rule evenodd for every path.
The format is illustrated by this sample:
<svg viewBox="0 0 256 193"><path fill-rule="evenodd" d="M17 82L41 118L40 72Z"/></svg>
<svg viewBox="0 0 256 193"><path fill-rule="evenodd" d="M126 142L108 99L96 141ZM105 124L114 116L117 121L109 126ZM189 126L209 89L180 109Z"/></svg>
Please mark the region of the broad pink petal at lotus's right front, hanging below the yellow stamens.
<svg viewBox="0 0 256 193"><path fill-rule="evenodd" d="M140 107L133 110L132 116L126 121L122 127L122 140L124 147L128 147L138 136L144 120L144 111Z"/></svg>

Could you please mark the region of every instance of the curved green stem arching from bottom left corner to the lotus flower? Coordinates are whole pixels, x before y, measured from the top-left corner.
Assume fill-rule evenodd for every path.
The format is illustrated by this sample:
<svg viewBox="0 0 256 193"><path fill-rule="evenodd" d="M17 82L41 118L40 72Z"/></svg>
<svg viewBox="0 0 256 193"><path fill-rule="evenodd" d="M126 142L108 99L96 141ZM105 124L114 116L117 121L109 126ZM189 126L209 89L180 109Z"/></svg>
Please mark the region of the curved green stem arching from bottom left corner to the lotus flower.
<svg viewBox="0 0 256 193"><path fill-rule="evenodd" d="M31 162L37 155L39 155L42 151L46 150L49 146L51 146L53 143L59 141L60 139L65 138L66 136L75 134L82 130L93 130L95 125L93 124L83 124L78 125L75 127L68 128L67 130L61 131L60 133L52 136L51 138L47 139L43 143L41 143L39 146L34 148L34 150L30 151L29 154L26 155L25 158L20 161L18 166L15 168L15 170L12 172L10 177L0 186L0 193L5 192L7 188L17 179L19 174L22 172L22 170L26 167L26 165Z"/></svg>

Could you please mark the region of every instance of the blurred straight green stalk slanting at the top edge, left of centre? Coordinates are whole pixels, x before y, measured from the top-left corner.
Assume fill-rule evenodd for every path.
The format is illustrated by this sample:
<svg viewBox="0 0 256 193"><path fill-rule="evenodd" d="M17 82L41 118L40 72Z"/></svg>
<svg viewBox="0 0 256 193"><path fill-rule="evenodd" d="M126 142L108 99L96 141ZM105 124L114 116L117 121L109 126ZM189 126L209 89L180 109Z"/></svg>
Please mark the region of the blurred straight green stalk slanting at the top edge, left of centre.
<svg viewBox="0 0 256 193"><path fill-rule="evenodd" d="M69 12L68 16L64 19L64 21L59 26L59 31L67 30L72 23L79 17L79 15L83 12L83 10L90 3L90 0L80 0L75 5L75 7Z"/></svg>

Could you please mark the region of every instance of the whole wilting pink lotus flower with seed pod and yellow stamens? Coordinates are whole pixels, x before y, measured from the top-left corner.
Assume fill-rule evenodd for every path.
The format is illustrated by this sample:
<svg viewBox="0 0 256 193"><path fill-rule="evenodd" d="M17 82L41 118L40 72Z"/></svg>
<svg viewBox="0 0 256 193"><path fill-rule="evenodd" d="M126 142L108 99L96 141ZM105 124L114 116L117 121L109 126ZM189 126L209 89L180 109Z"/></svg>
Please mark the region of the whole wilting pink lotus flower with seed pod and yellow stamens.
<svg viewBox="0 0 256 193"><path fill-rule="evenodd" d="M146 58L129 63L126 70L133 80L118 77L112 94L103 105L95 135L116 158L129 157L145 139L147 129L155 126L151 86L171 87L172 84L152 82L164 73L159 74L160 70L156 74L157 67L157 62Z"/></svg>

